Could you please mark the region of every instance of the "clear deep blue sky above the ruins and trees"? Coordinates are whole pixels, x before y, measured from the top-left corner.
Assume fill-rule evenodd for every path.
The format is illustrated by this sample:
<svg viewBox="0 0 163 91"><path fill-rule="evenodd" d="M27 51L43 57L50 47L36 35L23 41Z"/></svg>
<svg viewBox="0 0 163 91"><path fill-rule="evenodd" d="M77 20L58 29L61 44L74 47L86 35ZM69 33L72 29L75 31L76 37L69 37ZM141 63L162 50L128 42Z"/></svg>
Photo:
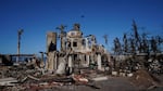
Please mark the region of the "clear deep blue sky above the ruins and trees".
<svg viewBox="0 0 163 91"><path fill-rule="evenodd" d="M163 34L163 0L0 0L0 53L17 53L17 30L24 29L21 53L46 51L46 35L65 31L79 23L84 36L95 35L104 44L108 35L111 51L113 39L131 32L133 20L140 31ZM59 48L58 48L59 49Z"/></svg>

